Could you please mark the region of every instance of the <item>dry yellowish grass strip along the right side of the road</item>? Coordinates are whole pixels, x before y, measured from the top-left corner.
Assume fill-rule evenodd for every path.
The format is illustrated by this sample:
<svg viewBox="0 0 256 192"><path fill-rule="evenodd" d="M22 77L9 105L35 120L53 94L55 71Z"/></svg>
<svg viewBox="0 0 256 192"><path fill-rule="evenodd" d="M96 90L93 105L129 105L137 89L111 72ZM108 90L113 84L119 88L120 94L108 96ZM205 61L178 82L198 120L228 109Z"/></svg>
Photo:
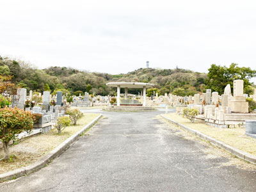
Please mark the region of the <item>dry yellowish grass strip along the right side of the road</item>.
<svg viewBox="0 0 256 192"><path fill-rule="evenodd" d="M211 136L216 140L227 143L232 147L236 147L256 156L256 140L255 138L246 136L245 128L236 127L223 129L218 127L211 127L210 125L200 123L197 120L194 124L192 124L187 118L183 118L181 115L177 115L176 113L168 113L164 114L164 116L174 120L175 122L179 122L180 124L186 125L192 129Z"/></svg>

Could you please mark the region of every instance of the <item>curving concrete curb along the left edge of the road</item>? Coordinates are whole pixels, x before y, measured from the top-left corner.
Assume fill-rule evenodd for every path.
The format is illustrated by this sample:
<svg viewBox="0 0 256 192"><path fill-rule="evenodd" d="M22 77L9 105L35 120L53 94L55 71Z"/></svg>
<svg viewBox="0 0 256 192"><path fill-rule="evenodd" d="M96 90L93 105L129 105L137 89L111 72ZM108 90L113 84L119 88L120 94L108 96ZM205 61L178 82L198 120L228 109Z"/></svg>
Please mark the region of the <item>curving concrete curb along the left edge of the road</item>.
<svg viewBox="0 0 256 192"><path fill-rule="evenodd" d="M52 161L52 159L54 159L55 157L58 157L64 150L70 147L70 145L74 141L76 141L81 136L81 134L83 134L84 131L92 127L97 122L97 120L99 120L101 116L102 114L97 116L94 120L92 120L92 122L84 126L81 129L81 131L73 134L72 136L70 136L70 138L67 138L67 140L63 141L63 143L61 143L58 147L54 148L54 150L49 152L49 154L42 157L42 159L36 161L33 164L30 164L29 166L25 166L24 168L19 168L11 172L0 174L0 182L4 182L5 180L10 180L10 179L17 179L18 177L22 177L24 175L28 175L37 170L40 170L40 168L43 168L46 164Z"/></svg>

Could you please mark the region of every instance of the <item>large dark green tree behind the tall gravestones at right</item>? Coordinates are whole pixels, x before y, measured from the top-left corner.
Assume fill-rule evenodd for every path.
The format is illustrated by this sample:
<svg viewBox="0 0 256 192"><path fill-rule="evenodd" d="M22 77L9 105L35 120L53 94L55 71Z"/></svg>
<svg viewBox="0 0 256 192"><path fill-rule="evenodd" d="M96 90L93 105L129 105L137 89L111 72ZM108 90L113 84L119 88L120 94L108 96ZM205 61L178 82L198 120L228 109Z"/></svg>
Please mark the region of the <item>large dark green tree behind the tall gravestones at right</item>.
<svg viewBox="0 0 256 192"><path fill-rule="evenodd" d="M225 86L230 84L233 88L233 81L242 79L244 81L244 89L251 85L249 79L256 77L256 70L250 67L237 67L236 63L232 63L230 67L212 64L208 69L208 79L206 88L211 88L213 92L223 94Z"/></svg>

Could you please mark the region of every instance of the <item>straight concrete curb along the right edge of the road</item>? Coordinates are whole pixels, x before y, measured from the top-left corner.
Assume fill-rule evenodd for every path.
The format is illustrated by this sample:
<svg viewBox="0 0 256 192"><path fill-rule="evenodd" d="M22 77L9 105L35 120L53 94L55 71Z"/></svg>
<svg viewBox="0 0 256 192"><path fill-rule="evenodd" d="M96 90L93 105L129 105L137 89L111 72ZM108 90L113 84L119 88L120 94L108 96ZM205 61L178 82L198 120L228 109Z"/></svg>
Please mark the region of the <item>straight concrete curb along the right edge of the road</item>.
<svg viewBox="0 0 256 192"><path fill-rule="evenodd" d="M195 134L199 138L202 138L203 140L209 141L212 145L218 146L220 148L223 148L230 152L230 154L233 154L236 157L239 157L240 159L243 159L244 161L248 161L250 163L256 164L256 156L253 156L252 154L249 154L248 152L244 152L242 150L239 150L238 148L232 147L230 145L227 145L226 143L223 143L221 141L218 141L214 138L211 138L210 136L207 136L206 134L196 131L195 129L191 129L190 127L187 127L186 125L179 124L178 122L175 122L174 120L160 115L164 119L168 120L169 122L172 122L175 125L178 125L179 127L182 127L182 129L185 129L188 132L191 132L192 134Z"/></svg>

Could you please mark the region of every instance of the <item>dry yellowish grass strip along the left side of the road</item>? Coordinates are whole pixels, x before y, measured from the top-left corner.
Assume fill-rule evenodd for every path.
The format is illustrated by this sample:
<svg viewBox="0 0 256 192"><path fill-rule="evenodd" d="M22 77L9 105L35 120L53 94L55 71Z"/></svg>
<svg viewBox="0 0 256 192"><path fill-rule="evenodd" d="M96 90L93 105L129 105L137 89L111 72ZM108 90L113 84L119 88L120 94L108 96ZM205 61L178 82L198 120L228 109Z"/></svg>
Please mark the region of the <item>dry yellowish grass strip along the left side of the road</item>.
<svg viewBox="0 0 256 192"><path fill-rule="evenodd" d="M10 145L10 159L0 161L0 174L35 163L67 138L80 131L85 125L92 122L97 116L99 114L84 113L84 116L77 120L76 126L66 127L61 134L57 134L58 131L52 129L46 134L38 134L24 140L15 141L15 145ZM0 151L0 159L1 157L3 157L3 149Z"/></svg>

